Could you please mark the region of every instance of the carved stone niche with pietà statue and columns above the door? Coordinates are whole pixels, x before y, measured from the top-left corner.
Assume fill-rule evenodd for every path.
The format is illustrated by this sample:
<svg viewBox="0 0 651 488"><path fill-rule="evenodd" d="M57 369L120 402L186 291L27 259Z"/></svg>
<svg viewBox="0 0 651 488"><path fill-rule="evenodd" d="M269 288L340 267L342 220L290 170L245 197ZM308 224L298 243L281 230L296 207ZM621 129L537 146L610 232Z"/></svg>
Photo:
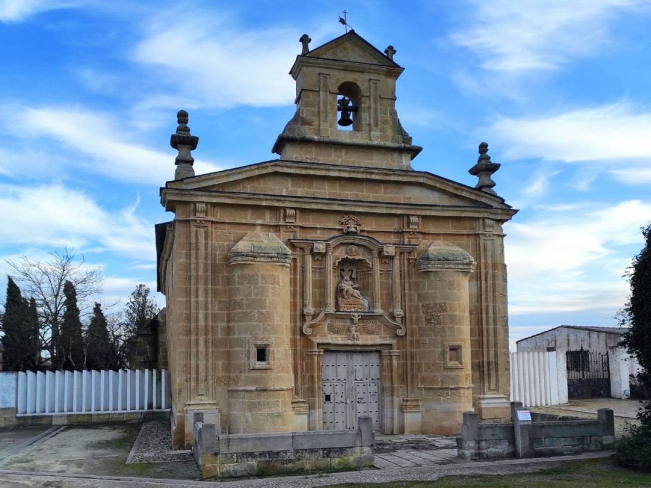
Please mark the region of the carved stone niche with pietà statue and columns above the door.
<svg viewBox="0 0 651 488"><path fill-rule="evenodd" d="M326 342L373 344L380 337L405 334L400 256L414 245L383 244L359 234L290 243L303 249L300 296L305 335ZM324 256L323 267L312 265L317 256ZM389 275L380 273L381 262L390 263Z"/></svg>

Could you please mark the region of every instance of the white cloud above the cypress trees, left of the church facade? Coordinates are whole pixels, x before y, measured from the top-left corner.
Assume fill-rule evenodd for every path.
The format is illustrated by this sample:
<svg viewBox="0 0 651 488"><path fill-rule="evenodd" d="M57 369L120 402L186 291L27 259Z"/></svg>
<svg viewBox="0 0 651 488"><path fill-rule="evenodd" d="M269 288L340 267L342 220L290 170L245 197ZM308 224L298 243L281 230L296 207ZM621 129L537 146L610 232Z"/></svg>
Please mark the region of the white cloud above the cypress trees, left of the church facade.
<svg viewBox="0 0 651 488"><path fill-rule="evenodd" d="M139 200L107 211L83 192L62 185L0 185L5 245L111 251L139 260L156 259L153 224L135 213Z"/></svg>

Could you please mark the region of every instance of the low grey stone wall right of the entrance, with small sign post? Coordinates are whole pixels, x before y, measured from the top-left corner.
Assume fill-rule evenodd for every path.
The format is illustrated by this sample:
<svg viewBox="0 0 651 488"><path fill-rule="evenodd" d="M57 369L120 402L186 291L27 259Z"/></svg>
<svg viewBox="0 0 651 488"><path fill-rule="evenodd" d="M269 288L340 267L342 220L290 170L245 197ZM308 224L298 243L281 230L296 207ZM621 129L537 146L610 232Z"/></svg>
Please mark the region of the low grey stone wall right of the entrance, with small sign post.
<svg viewBox="0 0 651 488"><path fill-rule="evenodd" d="M612 449L615 446L615 422L611 409L600 409L596 420L516 419L509 424L480 424L473 412L464 413L462 435L457 451L465 459L538 457L578 454ZM541 421L542 420L542 421Z"/></svg>

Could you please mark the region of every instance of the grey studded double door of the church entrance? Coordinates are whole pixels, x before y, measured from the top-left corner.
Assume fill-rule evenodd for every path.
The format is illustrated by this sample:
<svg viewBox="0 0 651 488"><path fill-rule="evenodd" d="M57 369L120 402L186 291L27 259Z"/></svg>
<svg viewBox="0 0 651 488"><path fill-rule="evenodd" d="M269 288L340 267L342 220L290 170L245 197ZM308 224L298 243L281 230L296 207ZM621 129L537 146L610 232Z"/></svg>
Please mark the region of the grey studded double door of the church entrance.
<svg viewBox="0 0 651 488"><path fill-rule="evenodd" d="M380 353L326 351L322 356L324 430L357 429L368 415L380 431Z"/></svg>

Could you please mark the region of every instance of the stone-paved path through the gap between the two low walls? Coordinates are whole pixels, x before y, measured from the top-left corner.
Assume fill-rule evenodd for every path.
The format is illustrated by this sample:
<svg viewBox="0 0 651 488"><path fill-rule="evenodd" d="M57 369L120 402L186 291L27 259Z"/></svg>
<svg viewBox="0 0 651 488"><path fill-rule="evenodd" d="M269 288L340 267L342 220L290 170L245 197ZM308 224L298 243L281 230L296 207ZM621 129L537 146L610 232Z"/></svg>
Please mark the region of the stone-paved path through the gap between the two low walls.
<svg viewBox="0 0 651 488"><path fill-rule="evenodd" d="M464 461L456 457L454 437L430 435L378 435L376 437L374 466L378 469L450 465Z"/></svg>

